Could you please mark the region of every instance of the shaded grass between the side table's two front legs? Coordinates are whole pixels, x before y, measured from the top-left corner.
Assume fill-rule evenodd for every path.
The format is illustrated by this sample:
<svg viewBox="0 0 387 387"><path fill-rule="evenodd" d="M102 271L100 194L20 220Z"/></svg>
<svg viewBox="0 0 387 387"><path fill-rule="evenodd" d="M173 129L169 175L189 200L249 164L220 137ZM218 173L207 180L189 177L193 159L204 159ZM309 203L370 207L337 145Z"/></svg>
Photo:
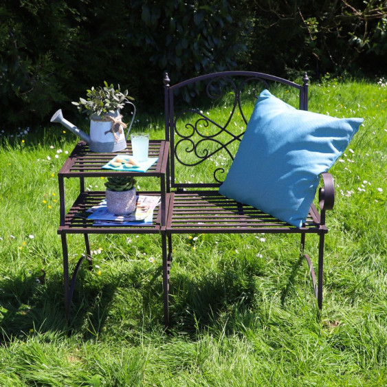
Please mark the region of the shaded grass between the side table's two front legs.
<svg viewBox="0 0 387 387"><path fill-rule="evenodd" d="M111 275L102 286L78 278L71 307L71 333L82 333L89 340L102 331L118 333L118 327L123 331L151 330L155 321L148 318L143 322L144 310L151 310L162 324L162 266L155 267L151 274L144 272L141 265L133 266Z"/></svg>

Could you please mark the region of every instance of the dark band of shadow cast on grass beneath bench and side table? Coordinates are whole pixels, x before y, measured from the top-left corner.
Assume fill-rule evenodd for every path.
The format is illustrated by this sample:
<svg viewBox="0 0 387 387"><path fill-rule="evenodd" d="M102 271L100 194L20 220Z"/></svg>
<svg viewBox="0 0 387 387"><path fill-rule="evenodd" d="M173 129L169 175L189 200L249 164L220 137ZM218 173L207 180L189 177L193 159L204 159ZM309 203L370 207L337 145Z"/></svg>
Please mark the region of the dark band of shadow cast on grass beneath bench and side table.
<svg viewBox="0 0 387 387"><path fill-rule="evenodd" d="M195 335L197 329L219 329L227 333L235 322L249 326L259 318L263 263L227 261L218 272L192 276L190 272L171 273L171 329ZM293 293L294 281L302 258L283 274L287 281L280 293L280 304ZM34 331L63 335L81 335L92 340L102 331L152 331L162 327L162 267L145 273L142 265L133 265L108 278L90 276L83 265L76 280L67 324L63 300L63 276L60 272L38 280L39 272L6 276L0 283L0 344L15 338L25 340ZM269 279L269 278L267 278ZM277 287L276 291L281 288ZM121 295L121 298L120 298ZM138 300L141 300L140 302ZM146 315L148 313L148 315ZM258 313L258 314L257 314ZM151 317L150 317L151 316ZM236 324L236 325L239 325Z"/></svg>

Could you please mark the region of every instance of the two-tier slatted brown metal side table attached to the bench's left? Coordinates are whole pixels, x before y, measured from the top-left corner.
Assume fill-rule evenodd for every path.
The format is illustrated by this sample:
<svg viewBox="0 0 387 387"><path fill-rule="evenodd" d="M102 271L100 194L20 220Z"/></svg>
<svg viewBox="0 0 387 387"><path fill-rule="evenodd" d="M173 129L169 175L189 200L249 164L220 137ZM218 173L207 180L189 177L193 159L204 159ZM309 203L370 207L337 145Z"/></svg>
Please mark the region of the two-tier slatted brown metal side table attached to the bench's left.
<svg viewBox="0 0 387 387"><path fill-rule="evenodd" d="M70 321L71 301L74 294L74 285L80 269L80 265L85 258L89 261L91 269L91 250L89 244L89 234L160 234L162 236L162 256L163 256L163 287L164 298L169 268L167 267L167 248L164 225L166 222L166 170L168 165L169 143L164 140L149 141L149 157L158 157L158 160L146 172L126 172L109 169L102 169L115 155L131 155L131 142L127 143L126 149L118 153L94 153L89 151L89 146L85 142L78 142L74 151L69 155L58 173L59 200L60 200L60 225L58 234L62 239L63 250L63 276L65 284L65 314L67 321ZM85 190L85 177L110 177L120 175L131 175L137 177L157 177L160 181L160 190L152 192L137 192L137 194L156 195L161 197L161 203L153 212L153 222L150 225L94 225L93 220L78 217L77 214L93 206L98 205L105 198L105 191ZM65 210L65 184L64 178L78 177L80 181L80 193L74 204L66 214ZM71 278L69 277L69 254L67 245L67 234L84 234L86 254L82 255L74 269ZM168 324L168 308L165 306L168 300L164 300L164 318ZM168 305L167 305L168 306Z"/></svg>

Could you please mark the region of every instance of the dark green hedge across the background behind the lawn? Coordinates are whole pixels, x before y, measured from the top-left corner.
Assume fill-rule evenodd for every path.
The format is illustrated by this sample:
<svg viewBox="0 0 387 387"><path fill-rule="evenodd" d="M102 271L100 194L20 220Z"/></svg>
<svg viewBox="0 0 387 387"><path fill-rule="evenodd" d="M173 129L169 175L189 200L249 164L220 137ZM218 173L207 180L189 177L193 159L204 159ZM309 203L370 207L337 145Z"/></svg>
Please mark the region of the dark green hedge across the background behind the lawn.
<svg viewBox="0 0 387 387"><path fill-rule="evenodd" d="M104 80L161 111L164 71L173 83L236 67L316 78L386 58L384 0L3 0L0 130L58 108L76 121L71 100Z"/></svg>

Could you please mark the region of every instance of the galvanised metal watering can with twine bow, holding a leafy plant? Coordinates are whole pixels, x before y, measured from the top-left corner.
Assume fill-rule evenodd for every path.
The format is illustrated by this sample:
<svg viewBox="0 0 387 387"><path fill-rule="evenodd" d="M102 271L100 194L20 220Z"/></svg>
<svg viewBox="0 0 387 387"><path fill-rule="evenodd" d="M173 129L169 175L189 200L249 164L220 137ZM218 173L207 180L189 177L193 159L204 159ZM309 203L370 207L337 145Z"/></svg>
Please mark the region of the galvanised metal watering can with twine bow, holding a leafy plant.
<svg viewBox="0 0 387 387"><path fill-rule="evenodd" d="M126 140L131 131L131 127L135 118L135 105L132 102L126 102L133 105L133 117L131 123L129 124L129 129L124 133L124 128L126 125L121 122L121 115L119 111L115 113L109 113L107 115L108 120L101 120L95 116L90 118L90 135L78 129L71 122L63 118L62 109L59 109L54 113L51 118L51 122L59 122L69 131L78 135L81 140L89 144L89 149L91 152L100 152L100 153L111 153L122 151L126 148Z"/></svg>

